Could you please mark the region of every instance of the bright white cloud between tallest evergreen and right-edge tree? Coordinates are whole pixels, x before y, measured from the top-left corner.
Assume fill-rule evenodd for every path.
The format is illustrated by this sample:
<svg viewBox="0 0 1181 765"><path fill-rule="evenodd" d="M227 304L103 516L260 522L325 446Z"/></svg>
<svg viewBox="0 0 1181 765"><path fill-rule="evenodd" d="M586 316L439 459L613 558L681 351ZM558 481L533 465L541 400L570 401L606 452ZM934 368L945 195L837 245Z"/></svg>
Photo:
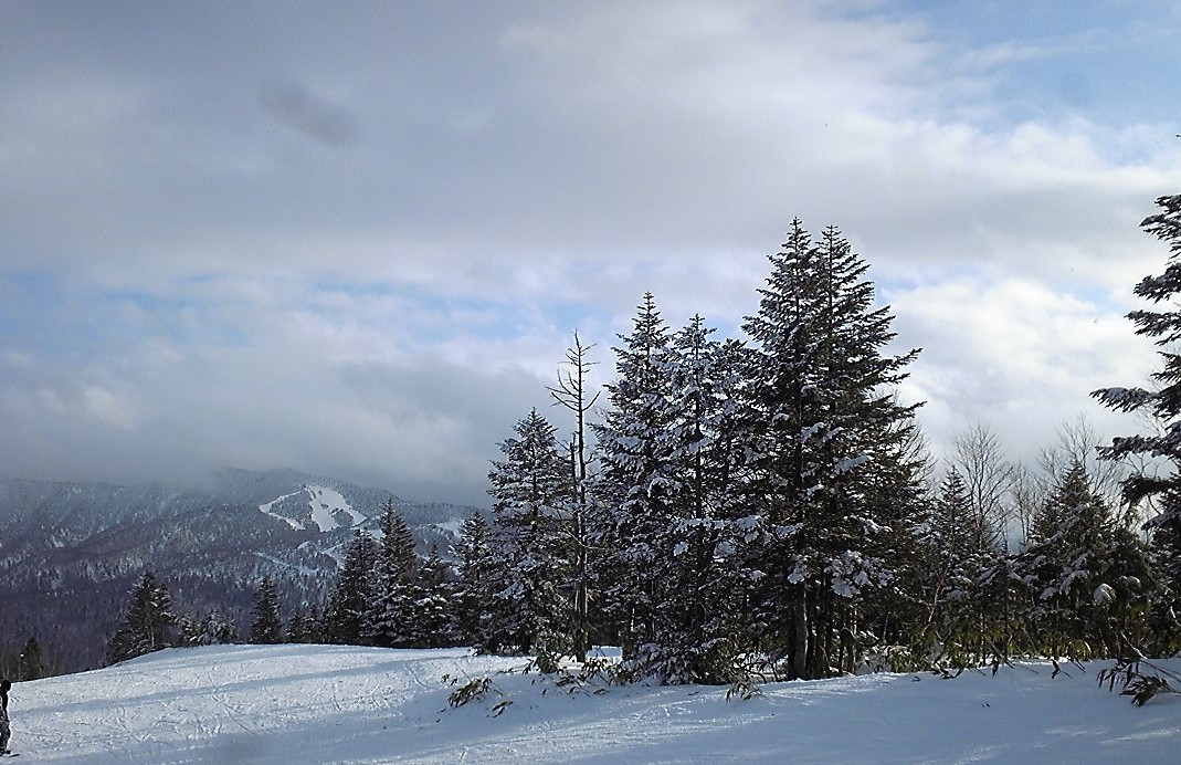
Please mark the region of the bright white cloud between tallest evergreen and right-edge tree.
<svg viewBox="0 0 1181 765"><path fill-rule="evenodd" d="M1030 463L1079 413L1108 436L1136 430L1133 417L1097 408L1090 391L1140 384L1154 349L1103 304L1017 278L965 278L888 297L899 345L924 345L902 394L926 402L919 420L937 455L977 421Z"/></svg>

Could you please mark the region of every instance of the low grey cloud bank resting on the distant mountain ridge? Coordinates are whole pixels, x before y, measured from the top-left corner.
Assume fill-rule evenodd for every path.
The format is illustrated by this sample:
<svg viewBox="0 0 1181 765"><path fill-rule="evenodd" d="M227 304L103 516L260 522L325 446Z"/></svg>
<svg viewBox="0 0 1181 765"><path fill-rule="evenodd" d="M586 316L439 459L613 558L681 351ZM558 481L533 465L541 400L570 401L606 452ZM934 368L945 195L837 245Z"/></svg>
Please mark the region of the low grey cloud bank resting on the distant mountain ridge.
<svg viewBox="0 0 1181 765"><path fill-rule="evenodd" d="M363 338L327 342L332 328L298 312L252 328L247 344L191 344L183 356L154 336L81 369L7 359L6 472L133 481L296 466L484 504L496 442L544 395L513 365L481 371L426 352L361 361L355 351L374 351Z"/></svg>

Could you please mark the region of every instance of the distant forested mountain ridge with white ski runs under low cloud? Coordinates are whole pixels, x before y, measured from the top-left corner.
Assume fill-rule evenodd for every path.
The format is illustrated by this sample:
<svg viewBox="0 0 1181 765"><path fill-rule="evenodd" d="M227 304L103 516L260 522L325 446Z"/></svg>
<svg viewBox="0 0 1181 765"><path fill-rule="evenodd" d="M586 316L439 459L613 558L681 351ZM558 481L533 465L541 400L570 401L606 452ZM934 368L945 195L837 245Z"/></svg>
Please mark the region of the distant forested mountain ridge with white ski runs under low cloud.
<svg viewBox="0 0 1181 765"><path fill-rule="evenodd" d="M353 534L380 537L387 500L424 555L446 557L476 512L287 469L224 469L197 487L0 479L0 648L35 635L70 669L96 666L144 571L178 612L243 623L268 575L288 611L319 607Z"/></svg>

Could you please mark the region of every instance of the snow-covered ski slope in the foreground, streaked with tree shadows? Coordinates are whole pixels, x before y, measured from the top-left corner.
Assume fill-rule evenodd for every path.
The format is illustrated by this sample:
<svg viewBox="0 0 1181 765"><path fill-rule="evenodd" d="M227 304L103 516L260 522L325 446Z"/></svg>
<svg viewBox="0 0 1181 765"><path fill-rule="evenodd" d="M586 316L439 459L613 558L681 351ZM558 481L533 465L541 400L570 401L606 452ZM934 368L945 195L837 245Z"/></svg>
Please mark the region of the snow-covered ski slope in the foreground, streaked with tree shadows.
<svg viewBox="0 0 1181 765"><path fill-rule="evenodd" d="M1181 761L1181 696L1135 708L1098 688L1104 664L1052 680L1027 664L775 683L749 701L713 687L572 694L513 674L495 680L503 696L448 707L444 675L521 664L465 650L171 649L14 685L12 747L21 763Z"/></svg>

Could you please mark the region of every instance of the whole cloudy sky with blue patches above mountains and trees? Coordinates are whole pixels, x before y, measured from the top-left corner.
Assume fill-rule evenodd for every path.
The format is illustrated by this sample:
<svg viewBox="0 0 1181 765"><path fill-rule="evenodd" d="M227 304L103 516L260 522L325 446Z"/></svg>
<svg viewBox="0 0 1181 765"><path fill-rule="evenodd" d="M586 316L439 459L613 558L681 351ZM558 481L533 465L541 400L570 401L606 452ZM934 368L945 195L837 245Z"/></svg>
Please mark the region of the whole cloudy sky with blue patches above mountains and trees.
<svg viewBox="0 0 1181 765"><path fill-rule="evenodd" d="M1174 1L0 4L0 474L488 505L574 331L596 383L646 291L740 337L794 218L937 456L1125 434L1179 52Z"/></svg>

